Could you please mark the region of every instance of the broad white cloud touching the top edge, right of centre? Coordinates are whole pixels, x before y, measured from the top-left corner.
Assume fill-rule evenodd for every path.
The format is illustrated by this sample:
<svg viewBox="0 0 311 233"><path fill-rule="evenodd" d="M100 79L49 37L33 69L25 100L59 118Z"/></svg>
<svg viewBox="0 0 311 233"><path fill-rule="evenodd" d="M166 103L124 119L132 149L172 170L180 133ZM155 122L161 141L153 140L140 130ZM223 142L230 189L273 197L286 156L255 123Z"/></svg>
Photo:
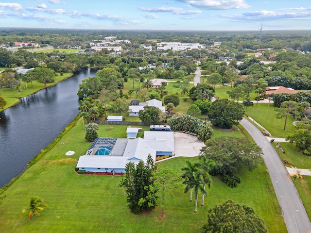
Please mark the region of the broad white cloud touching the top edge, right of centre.
<svg viewBox="0 0 311 233"><path fill-rule="evenodd" d="M229 10L251 7L245 0L177 0L189 3L190 6L206 10Z"/></svg>

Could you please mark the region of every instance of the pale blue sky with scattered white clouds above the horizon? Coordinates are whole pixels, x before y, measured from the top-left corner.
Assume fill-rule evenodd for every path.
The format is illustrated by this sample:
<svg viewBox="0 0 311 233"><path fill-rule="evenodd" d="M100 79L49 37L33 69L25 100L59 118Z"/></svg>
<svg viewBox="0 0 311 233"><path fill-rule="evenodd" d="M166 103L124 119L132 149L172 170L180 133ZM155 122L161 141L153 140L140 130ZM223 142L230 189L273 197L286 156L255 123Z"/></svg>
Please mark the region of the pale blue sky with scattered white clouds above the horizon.
<svg viewBox="0 0 311 233"><path fill-rule="evenodd" d="M13 0L0 27L108 30L311 30L311 0Z"/></svg>

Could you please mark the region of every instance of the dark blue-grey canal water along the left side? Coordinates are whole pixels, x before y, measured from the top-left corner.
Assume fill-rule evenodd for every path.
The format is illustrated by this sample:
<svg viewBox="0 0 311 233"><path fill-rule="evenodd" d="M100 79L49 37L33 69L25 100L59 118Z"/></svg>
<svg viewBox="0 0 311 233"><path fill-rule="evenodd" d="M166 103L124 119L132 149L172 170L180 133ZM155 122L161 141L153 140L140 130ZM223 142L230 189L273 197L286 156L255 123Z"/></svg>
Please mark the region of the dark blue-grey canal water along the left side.
<svg viewBox="0 0 311 233"><path fill-rule="evenodd" d="M81 71L0 112L0 187L20 174L77 116L79 83L97 71Z"/></svg>

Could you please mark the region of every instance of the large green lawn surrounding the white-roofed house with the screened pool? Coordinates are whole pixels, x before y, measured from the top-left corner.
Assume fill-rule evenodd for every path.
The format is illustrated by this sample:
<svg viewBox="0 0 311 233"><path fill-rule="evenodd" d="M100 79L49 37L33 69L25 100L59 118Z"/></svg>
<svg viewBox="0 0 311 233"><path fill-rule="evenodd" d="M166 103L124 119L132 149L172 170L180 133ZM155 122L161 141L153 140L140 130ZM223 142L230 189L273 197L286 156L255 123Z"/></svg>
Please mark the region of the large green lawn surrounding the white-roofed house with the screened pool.
<svg viewBox="0 0 311 233"><path fill-rule="evenodd" d="M126 127L100 125L98 133L101 137L125 137ZM189 202L189 193L174 190L175 199L165 206L164 218L160 217L159 207L150 213L133 215L126 207L122 189L118 188L121 177L74 172L79 156L90 146L84 136L80 119L52 150L4 192L7 197L1 205L0 232L199 232L206 222L207 209L228 199L253 207L264 219L269 232L286 232L265 166L253 172L242 171L239 174L242 183L235 189L214 177L214 183L207 190L205 206L199 204L198 213L194 213L194 202ZM75 154L66 156L68 150L74 150ZM157 163L157 166L172 167L181 173L180 168L187 159L197 160L177 157ZM29 222L27 216L19 214L34 195L42 197L48 208Z"/></svg>

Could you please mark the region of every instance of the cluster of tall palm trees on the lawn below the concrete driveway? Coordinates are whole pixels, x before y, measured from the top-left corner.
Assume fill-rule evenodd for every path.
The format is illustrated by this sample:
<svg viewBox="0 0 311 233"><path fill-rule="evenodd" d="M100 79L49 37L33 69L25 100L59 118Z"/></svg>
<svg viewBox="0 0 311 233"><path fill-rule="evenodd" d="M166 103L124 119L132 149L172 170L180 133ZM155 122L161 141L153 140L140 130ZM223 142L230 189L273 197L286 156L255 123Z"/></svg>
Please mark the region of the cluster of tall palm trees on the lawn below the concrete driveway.
<svg viewBox="0 0 311 233"><path fill-rule="evenodd" d="M207 196L205 187L208 185L208 188L210 188L210 184L213 182L209 175L209 171L216 165L213 160L207 159L206 156L200 156L199 158L201 162L197 161L192 164L186 161L187 166L181 168L181 170L184 171L182 178L184 179L183 183L186 184L185 193L190 191L190 201L192 201L192 192L194 190L194 212L197 212L199 191L202 193L201 206L204 205L204 197Z"/></svg>

